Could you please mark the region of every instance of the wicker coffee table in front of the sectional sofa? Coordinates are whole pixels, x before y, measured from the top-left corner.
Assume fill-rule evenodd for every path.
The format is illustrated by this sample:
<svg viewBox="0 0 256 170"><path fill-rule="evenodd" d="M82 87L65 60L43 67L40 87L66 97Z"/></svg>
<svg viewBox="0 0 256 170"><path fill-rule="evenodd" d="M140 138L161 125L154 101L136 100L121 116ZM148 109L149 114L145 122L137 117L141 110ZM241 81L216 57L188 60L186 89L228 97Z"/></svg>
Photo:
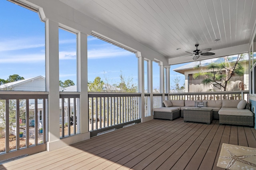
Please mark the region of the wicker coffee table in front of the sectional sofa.
<svg viewBox="0 0 256 170"><path fill-rule="evenodd" d="M212 123L212 109L206 107L184 108L184 122L194 121L210 125Z"/></svg>

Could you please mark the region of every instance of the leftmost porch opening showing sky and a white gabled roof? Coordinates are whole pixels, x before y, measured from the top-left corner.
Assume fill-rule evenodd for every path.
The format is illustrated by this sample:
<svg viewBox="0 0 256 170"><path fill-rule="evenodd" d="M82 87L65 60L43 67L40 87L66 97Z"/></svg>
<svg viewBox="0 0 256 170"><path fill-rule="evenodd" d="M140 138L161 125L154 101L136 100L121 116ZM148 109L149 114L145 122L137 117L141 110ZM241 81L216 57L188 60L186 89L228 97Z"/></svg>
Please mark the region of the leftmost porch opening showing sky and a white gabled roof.
<svg viewBox="0 0 256 170"><path fill-rule="evenodd" d="M0 90L45 91L45 23L34 11L0 1Z"/></svg>

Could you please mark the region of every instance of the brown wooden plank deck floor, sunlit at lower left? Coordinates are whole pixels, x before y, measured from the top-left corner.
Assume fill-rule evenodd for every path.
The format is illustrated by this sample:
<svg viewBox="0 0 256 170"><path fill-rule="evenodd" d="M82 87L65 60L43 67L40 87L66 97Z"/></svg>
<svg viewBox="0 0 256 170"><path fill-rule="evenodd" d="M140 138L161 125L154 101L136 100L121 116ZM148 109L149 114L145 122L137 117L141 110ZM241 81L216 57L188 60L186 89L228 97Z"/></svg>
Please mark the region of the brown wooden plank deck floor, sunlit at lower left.
<svg viewBox="0 0 256 170"><path fill-rule="evenodd" d="M0 169L210 170L222 143L256 148L250 127L154 119L51 152L5 163Z"/></svg>

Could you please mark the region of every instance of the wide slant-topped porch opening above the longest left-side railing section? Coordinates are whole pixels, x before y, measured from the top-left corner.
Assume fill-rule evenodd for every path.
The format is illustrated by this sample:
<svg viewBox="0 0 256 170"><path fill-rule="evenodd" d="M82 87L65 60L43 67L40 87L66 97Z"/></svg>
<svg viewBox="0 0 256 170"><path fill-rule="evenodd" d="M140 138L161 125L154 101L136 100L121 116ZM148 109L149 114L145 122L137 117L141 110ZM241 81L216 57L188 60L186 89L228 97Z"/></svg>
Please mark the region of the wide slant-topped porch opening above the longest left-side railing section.
<svg viewBox="0 0 256 170"><path fill-rule="evenodd" d="M87 39L88 91L138 92L136 54L100 38L90 35Z"/></svg>

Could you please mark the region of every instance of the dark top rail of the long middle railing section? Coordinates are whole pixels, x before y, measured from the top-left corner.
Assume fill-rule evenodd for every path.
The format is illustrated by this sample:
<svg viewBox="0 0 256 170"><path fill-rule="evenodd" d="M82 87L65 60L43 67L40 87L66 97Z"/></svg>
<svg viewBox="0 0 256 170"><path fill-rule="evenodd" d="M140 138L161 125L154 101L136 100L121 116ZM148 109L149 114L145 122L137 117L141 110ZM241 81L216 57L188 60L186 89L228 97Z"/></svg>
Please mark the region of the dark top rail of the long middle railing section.
<svg viewBox="0 0 256 170"><path fill-rule="evenodd" d="M141 93L108 93L108 92L88 92L88 97L128 97L141 96Z"/></svg>

